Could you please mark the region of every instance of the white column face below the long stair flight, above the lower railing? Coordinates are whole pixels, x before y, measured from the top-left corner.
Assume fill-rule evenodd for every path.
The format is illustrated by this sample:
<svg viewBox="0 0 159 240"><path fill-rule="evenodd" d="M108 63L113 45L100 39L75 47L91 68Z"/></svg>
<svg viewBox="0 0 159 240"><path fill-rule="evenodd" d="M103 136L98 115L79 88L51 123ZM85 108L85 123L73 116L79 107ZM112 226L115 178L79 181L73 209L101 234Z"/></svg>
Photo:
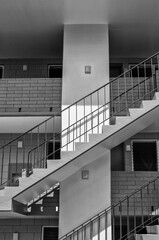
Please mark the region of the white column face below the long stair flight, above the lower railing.
<svg viewBox="0 0 159 240"><path fill-rule="evenodd" d="M89 180L81 171L89 170ZM110 206L110 153L60 184L59 237Z"/></svg>

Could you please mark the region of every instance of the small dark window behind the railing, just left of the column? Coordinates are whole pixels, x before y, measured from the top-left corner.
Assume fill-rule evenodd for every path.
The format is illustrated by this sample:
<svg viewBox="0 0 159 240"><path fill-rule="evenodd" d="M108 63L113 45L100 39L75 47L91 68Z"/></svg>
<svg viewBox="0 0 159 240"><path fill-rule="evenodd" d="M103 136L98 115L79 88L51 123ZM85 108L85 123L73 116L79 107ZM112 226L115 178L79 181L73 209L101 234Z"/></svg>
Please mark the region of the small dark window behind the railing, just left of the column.
<svg viewBox="0 0 159 240"><path fill-rule="evenodd" d="M47 147L48 159L60 159L60 147L61 144L59 140L50 141Z"/></svg>

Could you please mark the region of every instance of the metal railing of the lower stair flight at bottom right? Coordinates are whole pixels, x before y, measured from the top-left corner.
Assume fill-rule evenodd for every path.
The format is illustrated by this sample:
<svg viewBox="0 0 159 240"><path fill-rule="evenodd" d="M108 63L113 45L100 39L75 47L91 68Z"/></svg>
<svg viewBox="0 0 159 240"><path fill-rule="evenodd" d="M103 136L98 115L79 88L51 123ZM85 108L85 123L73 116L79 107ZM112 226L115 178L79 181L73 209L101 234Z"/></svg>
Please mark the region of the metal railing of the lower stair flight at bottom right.
<svg viewBox="0 0 159 240"><path fill-rule="evenodd" d="M60 240L134 239L134 234L158 217L159 176L82 223Z"/></svg>

